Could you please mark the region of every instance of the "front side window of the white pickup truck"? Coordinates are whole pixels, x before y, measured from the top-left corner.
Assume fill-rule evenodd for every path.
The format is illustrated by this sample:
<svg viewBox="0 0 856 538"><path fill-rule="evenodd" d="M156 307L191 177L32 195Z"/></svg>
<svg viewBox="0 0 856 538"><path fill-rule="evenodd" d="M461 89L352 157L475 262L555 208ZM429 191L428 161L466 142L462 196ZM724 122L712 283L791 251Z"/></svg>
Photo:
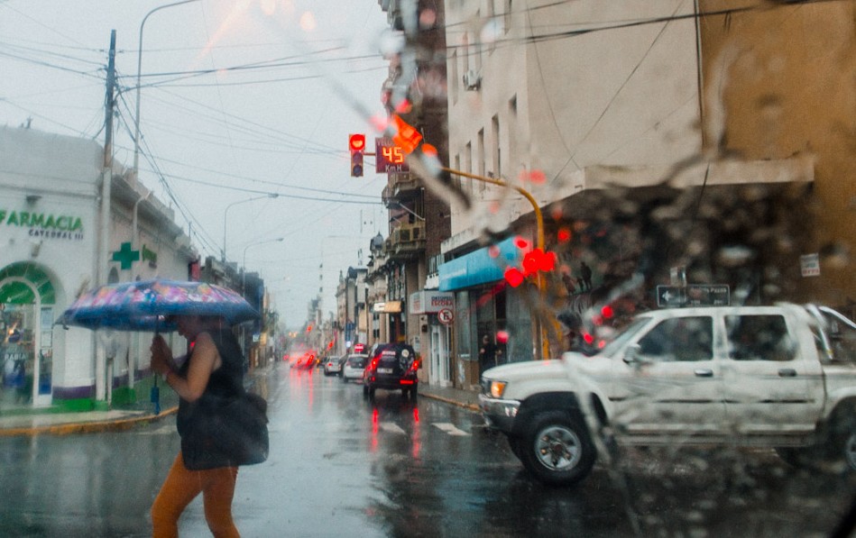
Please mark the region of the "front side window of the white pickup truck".
<svg viewBox="0 0 856 538"><path fill-rule="evenodd" d="M641 354L655 360L713 360L713 319L697 316L664 320L639 344Z"/></svg>

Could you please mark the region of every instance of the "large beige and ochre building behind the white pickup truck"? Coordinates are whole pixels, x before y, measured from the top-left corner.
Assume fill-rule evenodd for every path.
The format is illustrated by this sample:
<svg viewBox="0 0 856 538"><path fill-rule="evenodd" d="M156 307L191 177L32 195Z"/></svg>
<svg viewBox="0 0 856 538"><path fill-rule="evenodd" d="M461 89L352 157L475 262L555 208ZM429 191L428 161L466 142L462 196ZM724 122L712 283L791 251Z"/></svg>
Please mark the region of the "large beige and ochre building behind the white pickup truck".
<svg viewBox="0 0 856 538"><path fill-rule="evenodd" d="M846 310L854 6L447 0L450 168L537 199L557 253L542 282L554 312L582 313L619 287L656 306L656 287L675 283ZM537 241L515 190L457 181L472 207L450 191L446 263L509 235ZM587 285L581 263L594 269ZM474 361L480 334L496 332L506 360L561 351L561 328L542 347L529 326L524 310L545 306L530 287L474 281L444 287L440 268L440 289L474 318L456 322L458 357Z"/></svg>

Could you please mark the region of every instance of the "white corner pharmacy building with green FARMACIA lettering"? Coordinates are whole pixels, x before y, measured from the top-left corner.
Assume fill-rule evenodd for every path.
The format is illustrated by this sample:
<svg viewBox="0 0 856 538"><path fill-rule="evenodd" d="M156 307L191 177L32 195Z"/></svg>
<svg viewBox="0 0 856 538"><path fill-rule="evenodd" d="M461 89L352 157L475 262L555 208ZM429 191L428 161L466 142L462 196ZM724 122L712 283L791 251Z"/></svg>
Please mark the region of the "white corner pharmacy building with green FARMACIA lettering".
<svg viewBox="0 0 856 538"><path fill-rule="evenodd" d="M116 169L109 243L99 249L103 162L95 141L0 128L3 406L86 410L135 398L151 335L54 322L99 278L188 279L197 262L171 210Z"/></svg>

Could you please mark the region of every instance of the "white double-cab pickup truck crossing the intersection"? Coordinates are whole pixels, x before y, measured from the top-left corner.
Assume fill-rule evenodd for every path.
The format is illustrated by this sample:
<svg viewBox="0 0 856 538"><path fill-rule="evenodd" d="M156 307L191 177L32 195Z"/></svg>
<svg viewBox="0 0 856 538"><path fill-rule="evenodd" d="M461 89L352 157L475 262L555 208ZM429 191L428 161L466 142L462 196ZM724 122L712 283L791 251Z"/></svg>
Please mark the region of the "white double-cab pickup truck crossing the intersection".
<svg viewBox="0 0 856 538"><path fill-rule="evenodd" d="M584 479L595 445L616 444L761 446L856 470L856 324L823 306L648 312L594 356L499 366L481 385L487 425L549 484Z"/></svg>

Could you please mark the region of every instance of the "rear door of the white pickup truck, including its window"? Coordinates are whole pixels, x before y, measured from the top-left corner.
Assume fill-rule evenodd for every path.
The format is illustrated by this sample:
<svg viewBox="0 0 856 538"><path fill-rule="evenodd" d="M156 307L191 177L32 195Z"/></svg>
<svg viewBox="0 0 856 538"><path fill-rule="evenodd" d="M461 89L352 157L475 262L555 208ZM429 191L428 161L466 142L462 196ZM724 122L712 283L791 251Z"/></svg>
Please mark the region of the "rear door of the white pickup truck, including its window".
<svg viewBox="0 0 856 538"><path fill-rule="evenodd" d="M815 430L824 406L824 372L814 338L800 337L797 323L781 312L724 316L726 415L736 432Z"/></svg>

